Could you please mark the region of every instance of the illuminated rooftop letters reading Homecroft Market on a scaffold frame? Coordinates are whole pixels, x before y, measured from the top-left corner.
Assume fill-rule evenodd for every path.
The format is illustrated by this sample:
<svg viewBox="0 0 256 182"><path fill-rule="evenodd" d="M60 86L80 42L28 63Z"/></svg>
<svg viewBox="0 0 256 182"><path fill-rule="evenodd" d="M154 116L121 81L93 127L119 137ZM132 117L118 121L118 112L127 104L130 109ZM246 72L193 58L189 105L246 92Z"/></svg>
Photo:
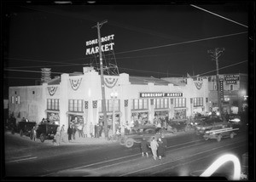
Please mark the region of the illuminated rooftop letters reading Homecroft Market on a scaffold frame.
<svg viewBox="0 0 256 182"><path fill-rule="evenodd" d="M106 36L106 37L102 37L102 43L106 43L108 41L113 40L113 36L114 35L110 35L110 36ZM94 40L90 40L90 41L86 41L86 46L92 46L94 44L98 44L98 39L94 39ZM102 52L106 52L109 50L113 50L113 45L114 43L106 43L102 45ZM92 48L86 48L86 55L88 54L96 54L99 52L99 47L92 47Z"/></svg>

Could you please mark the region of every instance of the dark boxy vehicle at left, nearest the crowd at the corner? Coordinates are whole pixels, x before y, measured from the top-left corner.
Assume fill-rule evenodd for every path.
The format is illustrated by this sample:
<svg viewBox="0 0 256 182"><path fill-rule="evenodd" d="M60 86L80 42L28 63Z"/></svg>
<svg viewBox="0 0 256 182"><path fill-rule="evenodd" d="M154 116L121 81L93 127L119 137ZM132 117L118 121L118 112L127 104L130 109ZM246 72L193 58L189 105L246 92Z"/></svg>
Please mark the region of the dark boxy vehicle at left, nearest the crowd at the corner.
<svg viewBox="0 0 256 182"><path fill-rule="evenodd" d="M41 142L44 142L45 139L54 139L58 127L59 125L57 124L39 124L37 129L37 138L40 139Z"/></svg>

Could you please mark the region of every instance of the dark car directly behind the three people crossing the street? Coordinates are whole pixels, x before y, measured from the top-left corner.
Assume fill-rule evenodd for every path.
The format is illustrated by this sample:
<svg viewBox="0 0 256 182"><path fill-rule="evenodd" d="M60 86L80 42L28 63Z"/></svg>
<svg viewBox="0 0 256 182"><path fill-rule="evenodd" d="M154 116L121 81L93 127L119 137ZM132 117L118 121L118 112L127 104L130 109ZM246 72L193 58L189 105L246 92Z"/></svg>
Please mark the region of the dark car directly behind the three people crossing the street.
<svg viewBox="0 0 256 182"><path fill-rule="evenodd" d="M142 127L131 129L130 134L125 134L125 136L119 140L119 143L120 145L125 145L130 148L134 143L141 143L143 138L150 142L153 136L156 139L159 139L160 137L160 134L156 133L156 127L154 125L144 125Z"/></svg>

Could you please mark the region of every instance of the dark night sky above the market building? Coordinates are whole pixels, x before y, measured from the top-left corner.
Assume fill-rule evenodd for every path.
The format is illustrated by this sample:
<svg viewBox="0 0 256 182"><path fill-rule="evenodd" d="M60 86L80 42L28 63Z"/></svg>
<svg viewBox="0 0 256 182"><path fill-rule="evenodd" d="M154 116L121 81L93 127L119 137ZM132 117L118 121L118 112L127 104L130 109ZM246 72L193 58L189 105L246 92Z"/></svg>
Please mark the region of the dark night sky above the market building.
<svg viewBox="0 0 256 182"><path fill-rule="evenodd" d="M3 4L4 81L8 86L34 85L41 77L37 72L41 67L51 68L52 77L60 75L55 72L82 72L83 64L90 63L85 42L97 38L92 26L103 20L108 23L101 28L102 37L114 34L120 73L144 77L213 75L216 62L207 54L213 48L225 48L218 59L220 74L247 73L247 1L197 6L244 26L189 3ZM65 63L69 65L61 65Z"/></svg>

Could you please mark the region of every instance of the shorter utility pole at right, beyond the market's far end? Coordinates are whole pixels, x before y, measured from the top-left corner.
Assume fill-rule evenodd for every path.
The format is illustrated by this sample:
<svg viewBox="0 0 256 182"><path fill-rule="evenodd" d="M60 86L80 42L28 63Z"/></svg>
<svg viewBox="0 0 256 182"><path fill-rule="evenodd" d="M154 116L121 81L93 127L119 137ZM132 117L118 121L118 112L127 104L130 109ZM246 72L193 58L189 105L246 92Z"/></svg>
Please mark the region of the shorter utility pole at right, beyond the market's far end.
<svg viewBox="0 0 256 182"><path fill-rule="evenodd" d="M212 60L216 61L216 81L217 81L217 95L218 95L218 111L219 111L219 117L222 118L222 105L221 105L221 98L220 98L220 88L219 88L219 77L218 77L218 57L221 55L221 53L224 52L224 48L214 48L214 50L208 50L207 53L212 54Z"/></svg>

